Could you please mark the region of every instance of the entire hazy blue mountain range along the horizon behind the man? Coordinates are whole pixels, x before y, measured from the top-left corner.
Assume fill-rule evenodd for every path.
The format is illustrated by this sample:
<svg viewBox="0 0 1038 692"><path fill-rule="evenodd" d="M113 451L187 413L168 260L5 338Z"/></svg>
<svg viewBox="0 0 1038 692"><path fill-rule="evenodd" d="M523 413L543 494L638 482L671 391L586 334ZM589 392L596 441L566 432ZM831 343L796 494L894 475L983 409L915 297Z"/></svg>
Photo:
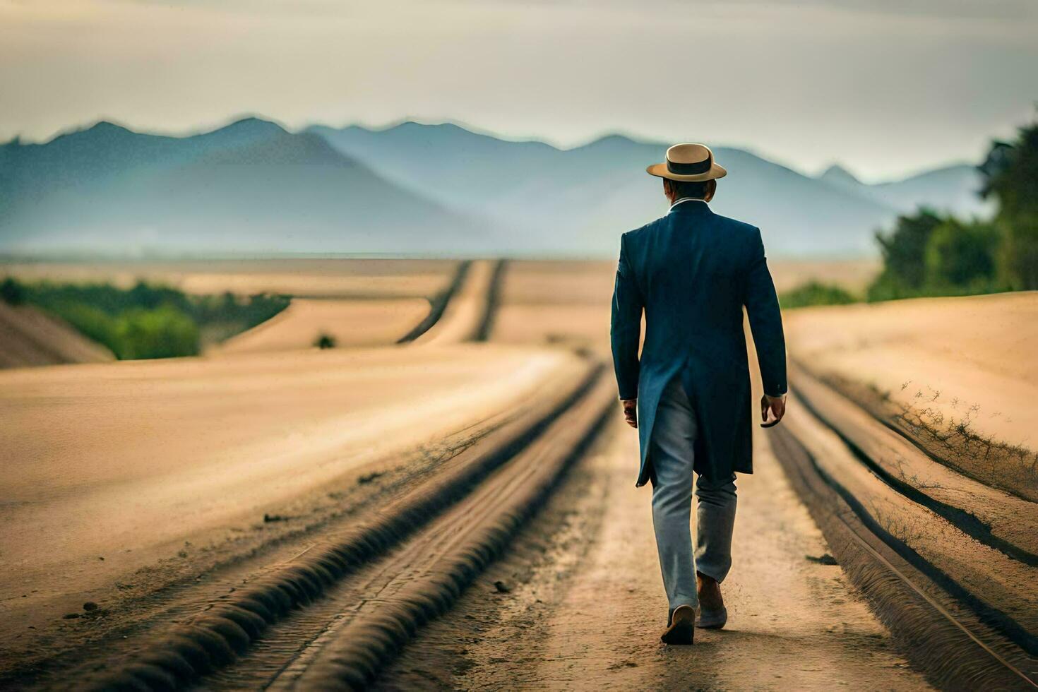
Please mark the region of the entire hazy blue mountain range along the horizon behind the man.
<svg viewBox="0 0 1038 692"><path fill-rule="evenodd" d="M572 149L455 124L384 130L258 118L188 137L109 122L0 145L0 252L616 253L666 210L645 166L665 145L609 136ZM985 215L977 171L949 166L866 185L811 177L714 147L713 209L759 225L772 255L875 252L873 233L920 204Z"/></svg>

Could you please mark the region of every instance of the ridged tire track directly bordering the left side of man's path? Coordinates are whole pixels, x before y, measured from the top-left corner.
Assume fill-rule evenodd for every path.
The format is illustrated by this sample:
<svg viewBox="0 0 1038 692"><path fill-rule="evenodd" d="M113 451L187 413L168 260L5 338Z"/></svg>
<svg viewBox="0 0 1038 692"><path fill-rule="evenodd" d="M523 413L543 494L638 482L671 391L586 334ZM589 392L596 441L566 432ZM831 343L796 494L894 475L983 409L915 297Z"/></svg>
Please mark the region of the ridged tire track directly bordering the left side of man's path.
<svg viewBox="0 0 1038 692"><path fill-rule="evenodd" d="M611 410L599 382L580 405L380 566L368 600L303 649L272 689L364 689L429 620L445 612L579 456Z"/></svg>

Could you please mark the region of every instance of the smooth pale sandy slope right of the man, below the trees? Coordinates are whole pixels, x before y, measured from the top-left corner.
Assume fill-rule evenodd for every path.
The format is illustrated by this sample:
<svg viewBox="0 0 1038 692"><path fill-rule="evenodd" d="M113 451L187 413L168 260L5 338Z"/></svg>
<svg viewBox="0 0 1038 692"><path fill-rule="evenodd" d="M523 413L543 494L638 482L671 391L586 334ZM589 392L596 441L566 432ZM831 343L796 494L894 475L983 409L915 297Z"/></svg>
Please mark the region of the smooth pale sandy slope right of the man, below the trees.
<svg viewBox="0 0 1038 692"><path fill-rule="evenodd" d="M1038 447L1038 293L807 308L785 324L790 355L813 372Z"/></svg>

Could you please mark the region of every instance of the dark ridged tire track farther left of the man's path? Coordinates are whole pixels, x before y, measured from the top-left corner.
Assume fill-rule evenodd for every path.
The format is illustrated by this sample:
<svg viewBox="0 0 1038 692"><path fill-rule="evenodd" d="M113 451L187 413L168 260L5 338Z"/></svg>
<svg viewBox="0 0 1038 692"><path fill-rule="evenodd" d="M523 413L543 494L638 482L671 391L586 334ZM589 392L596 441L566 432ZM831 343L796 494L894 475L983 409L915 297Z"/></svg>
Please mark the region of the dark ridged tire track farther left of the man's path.
<svg viewBox="0 0 1038 692"><path fill-rule="evenodd" d="M538 406L462 452L454 468L392 502L374 519L308 549L171 632L149 636L127 660L86 681L88 689L181 689L245 655L267 628L315 603L329 587L385 554L464 498L534 443L601 382L601 365L559 383ZM553 394L553 395L552 395Z"/></svg>

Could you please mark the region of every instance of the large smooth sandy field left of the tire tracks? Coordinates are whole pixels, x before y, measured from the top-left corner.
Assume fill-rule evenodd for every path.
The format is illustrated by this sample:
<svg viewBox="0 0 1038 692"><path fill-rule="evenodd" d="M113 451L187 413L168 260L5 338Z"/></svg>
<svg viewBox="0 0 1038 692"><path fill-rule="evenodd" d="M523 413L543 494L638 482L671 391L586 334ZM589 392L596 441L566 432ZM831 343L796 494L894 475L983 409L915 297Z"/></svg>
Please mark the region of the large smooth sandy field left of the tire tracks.
<svg viewBox="0 0 1038 692"><path fill-rule="evenodd" d="M263 531L271 504L576 366L563 352L454 347L0 372L0 613L21 632L140 587L141 569Z"/></svg>

